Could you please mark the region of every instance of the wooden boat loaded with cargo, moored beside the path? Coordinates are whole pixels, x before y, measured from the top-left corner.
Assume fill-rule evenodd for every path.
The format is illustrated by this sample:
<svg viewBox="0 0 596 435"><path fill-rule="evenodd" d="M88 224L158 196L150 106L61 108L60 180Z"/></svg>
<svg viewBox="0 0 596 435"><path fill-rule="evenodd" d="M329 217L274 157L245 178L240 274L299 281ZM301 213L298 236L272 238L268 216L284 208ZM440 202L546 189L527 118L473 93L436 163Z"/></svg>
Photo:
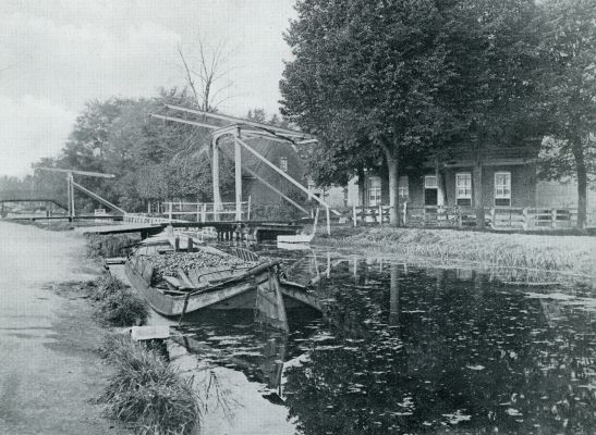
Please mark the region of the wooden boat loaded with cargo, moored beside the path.
<svg viewBox="0 0 596 435"><path fill-rule="evenodd" d="M277 261L243 249L227 253L192 238L162 235L142 241L127 257L124 273L166 316L204 308L257 309L266 323L284 328L287 306L320 309L304 286L280 279Z"/></svg>

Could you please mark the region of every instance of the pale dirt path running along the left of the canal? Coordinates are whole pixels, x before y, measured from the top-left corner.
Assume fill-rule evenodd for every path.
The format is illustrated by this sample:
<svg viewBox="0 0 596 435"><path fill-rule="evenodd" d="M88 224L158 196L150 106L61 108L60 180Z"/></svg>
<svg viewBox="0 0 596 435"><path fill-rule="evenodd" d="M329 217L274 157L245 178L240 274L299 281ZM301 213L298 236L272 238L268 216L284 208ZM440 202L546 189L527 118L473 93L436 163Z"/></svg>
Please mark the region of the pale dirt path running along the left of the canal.
<svg viewBox="0 0 596 435"><path fill-rule="evenodd" d="M108 368L85 293L84 239L0 223L0 434L123 434L94 403Z"/></svg>

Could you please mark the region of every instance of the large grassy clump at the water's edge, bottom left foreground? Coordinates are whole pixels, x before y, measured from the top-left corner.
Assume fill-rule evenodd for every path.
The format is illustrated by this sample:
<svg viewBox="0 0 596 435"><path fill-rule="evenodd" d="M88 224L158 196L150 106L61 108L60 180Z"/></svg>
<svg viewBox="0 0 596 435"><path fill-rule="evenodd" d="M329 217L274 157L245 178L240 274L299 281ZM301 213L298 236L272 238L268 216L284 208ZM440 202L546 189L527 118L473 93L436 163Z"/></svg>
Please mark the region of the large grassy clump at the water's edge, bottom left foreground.
<svg viewBox="0 0 596 435"><path fill-rule="evenodd" d="M100 401L106 414L132 424L142 435L187 435L198 428L198 397L163 357L126 335L102 340L101 355L117 370Z"/></svg>

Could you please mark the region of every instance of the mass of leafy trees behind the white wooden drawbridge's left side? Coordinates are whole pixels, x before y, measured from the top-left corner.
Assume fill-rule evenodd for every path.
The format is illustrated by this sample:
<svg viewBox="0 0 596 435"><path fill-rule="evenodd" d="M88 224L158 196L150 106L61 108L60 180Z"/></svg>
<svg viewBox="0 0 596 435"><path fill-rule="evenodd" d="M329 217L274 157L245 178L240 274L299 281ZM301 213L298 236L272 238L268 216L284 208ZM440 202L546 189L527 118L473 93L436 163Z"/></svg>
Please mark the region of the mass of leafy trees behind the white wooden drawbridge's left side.
<svg viewBox="0 0 596 435"><path fill-rule="evenodd" d="M34 164L34 185L65 197L64 175L39 167L63 167L111 173L113 179L85 177L80 182L125 210L144 210L146 201L167 199L209 200L211 167L209 132L150 117L165 103L188 103L186 92L161 91L154 99L92 101L76 119L61 156ZM221 162L223 192L233 186L231 163ZM76 196L78 210L94 202Z"/></svg>

